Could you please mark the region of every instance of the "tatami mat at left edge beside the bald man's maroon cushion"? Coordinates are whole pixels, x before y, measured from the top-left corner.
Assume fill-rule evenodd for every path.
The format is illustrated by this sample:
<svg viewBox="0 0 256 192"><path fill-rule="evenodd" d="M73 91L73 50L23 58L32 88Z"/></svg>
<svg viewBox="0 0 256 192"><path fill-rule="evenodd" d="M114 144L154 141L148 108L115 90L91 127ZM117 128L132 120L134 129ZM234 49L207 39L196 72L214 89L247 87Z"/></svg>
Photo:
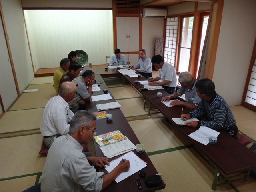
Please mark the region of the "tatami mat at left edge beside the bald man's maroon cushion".
<svg viewBox="0 0 256 192"><path fill-rule="evenodd" d="M41 149L41 134L0 139L0 179L42 172L46 157Z"/></svg>

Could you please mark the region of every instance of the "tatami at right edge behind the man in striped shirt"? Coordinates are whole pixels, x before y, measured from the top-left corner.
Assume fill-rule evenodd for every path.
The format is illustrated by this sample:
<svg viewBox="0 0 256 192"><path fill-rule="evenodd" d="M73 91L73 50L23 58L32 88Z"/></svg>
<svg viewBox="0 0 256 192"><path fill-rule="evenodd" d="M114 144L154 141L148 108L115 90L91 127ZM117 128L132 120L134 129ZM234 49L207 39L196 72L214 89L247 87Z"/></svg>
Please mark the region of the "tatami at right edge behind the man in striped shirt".
<svg viewBox="0 0 256 192"><path fill-rule="evenodd" d="M230 109L234 114L238 130L256 140L255 126L253 126L255 125L256 113L240 105L231 106Z"/></svg>

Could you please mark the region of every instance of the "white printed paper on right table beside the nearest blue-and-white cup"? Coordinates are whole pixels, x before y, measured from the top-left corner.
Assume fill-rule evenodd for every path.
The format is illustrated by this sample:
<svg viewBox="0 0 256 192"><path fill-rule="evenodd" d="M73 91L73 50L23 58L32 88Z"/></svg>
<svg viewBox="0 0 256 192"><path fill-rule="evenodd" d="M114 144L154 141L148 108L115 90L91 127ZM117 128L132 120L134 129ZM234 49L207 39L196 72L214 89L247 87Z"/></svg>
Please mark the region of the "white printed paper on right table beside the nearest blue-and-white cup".
<svg viewBox="0 0 256 192"><path fill-rule="evenodd" d="M191 133L189 135L189 137L191 137L192 139L204 144L204 145L207 145L209 143L209 138L210 136L214 136L217 138L217 136L219 135L220 133L218 131L215 131L211 128L208 128L208 127L200 127L197 131Z"/></svg>

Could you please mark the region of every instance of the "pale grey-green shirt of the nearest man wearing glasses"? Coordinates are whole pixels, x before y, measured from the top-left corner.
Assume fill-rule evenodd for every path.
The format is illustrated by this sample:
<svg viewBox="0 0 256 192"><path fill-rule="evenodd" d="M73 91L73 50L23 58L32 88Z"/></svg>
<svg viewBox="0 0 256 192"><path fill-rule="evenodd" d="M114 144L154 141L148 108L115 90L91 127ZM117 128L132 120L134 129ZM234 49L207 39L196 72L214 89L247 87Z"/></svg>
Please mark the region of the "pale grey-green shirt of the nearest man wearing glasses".
<svg viewBox="0 0 256 192"><path fill-rule="evenodd" d="M102 172L96 172L69 134L58 137L49 149L41 176L42 192L100 192Z"/></svg>

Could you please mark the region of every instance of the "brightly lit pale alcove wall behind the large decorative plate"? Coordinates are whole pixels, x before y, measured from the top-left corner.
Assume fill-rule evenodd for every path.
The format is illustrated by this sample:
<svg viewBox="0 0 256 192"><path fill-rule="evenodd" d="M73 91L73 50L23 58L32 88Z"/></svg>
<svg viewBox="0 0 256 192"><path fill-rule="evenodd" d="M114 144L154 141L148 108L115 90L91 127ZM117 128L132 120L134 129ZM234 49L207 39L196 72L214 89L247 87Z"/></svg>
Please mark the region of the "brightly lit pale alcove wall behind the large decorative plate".
<svg viewBox="0 0 256 192"><path fill-rule="evenodd" d="M32 59L38 68L60 66L70 51L84 50L92 65L113 52L112 10L24 10Z"/></svg>

